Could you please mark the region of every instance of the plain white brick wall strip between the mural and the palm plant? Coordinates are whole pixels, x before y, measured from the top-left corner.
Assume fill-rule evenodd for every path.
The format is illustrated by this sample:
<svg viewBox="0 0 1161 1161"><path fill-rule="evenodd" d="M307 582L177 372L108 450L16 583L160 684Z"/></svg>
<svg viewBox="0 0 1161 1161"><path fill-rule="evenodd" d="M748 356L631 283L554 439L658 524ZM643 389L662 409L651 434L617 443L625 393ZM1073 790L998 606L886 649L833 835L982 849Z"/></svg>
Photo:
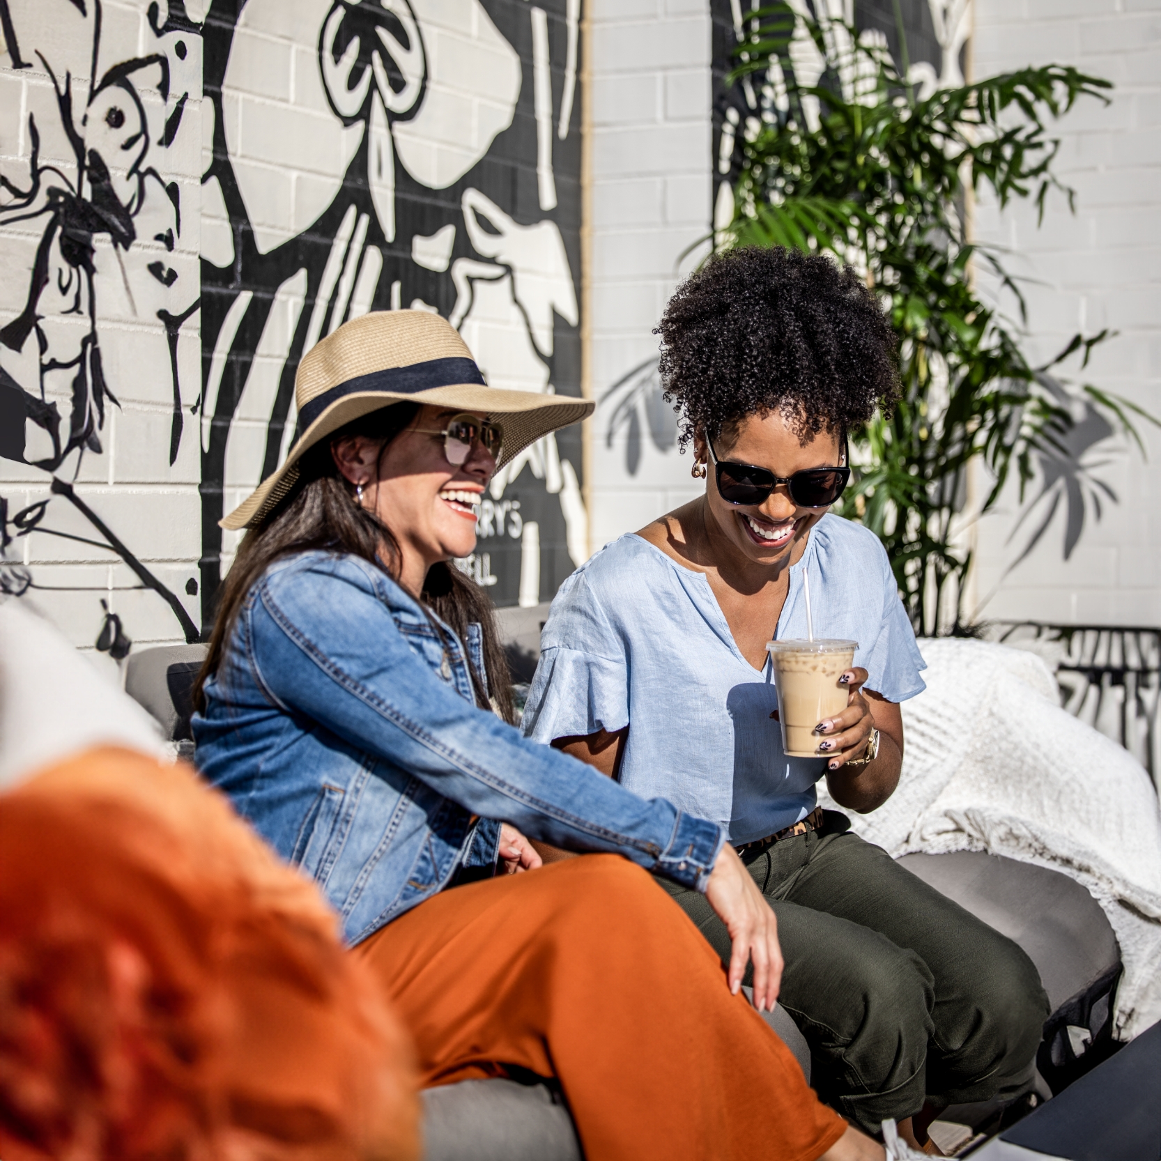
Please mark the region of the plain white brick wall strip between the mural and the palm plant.
<svg viewBox="0 0 1161 1161"><path fill-rule="evenodd" d="M587 0L591 267L589 383L601 399L657 353L651 333L678 281L678 259L711 219L709 6L705 0ZM690 259L683 264L687 271ZM641 457L626 464L629 428L608 439L616 399L598 405L589 438L592 547L691 498L692 459L661 450L639 406ZM655 413L656 418L656 413Z"/></svg>

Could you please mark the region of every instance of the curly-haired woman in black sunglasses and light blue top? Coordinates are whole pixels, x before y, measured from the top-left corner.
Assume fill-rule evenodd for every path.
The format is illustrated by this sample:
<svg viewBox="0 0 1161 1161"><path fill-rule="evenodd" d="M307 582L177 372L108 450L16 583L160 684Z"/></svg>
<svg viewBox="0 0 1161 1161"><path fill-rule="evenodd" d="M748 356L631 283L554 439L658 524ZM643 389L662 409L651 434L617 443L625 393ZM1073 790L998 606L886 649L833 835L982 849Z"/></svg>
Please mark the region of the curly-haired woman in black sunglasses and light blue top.
<svg viewBox="0 0 1161 1161"><path fill-rule="evenodd" d="M524 729L727 828L777 916L779 1001L820 1095L922 1142L938 1108L1027 1086L1047 1002L1019 947L817 806L823 776L859 813L890 796L899 704L924 687L881 543L828 512L848 434L899 396L894 334L853 271L781 248L714 258L657 333L705 493L564 583ZM766 654L771 637L807 636L807 574L814 635L859 643L814 758L783 751ZM728 956L705 900L664 886Z"/></svg>

